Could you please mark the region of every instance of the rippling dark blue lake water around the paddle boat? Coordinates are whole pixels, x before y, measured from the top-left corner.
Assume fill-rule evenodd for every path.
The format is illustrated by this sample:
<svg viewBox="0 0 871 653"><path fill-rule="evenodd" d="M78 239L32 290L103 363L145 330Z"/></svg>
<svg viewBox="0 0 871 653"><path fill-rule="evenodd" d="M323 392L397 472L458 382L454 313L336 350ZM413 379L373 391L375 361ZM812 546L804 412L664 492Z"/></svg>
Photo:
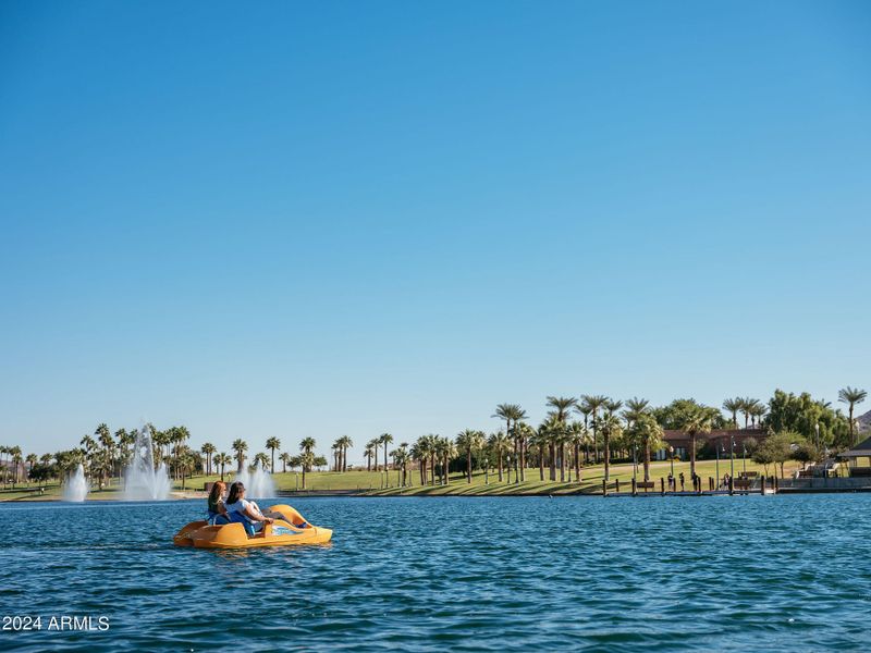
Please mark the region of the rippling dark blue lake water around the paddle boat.
<svg viewBox="0 0 871 653"><path fill-rule="evenodd" d="M44 627L0 650L871 648L871 495L291 503L333 543L174 547L205 502L0 504L0 614Z"/></svg>

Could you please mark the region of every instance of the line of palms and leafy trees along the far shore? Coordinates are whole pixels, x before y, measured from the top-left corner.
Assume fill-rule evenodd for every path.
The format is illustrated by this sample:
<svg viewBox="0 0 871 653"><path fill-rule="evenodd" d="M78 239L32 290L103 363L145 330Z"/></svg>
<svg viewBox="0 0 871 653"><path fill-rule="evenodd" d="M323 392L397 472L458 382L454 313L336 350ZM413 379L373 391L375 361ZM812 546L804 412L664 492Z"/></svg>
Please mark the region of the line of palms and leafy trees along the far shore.
<svg viewBox="0 0 871 653"><path fill-rule="evenodd" d="M368 471L393 469L397 482L408 481L409 464L416 463L421 484L447 483L449 472L463 470L471 481L474 469L491 468L500 481L505 473L514 472L515 482L526 480L530 470L538 470L541 481L580 481L582 468L603 464L604 478L611 477L611 465L630 457L643 465L643 477L650 478L653 452L663 447L665 430L684 431L690 440L688 447L690 473L696 472L697 456L713 457L714 452L699 446L699 441L715 429L763 429L768 438L757 446L753 441L749 453L762 464L781 464L796 454L819 459L824 452L836 452L857 443L858 429L855 408L867 398L864 390L847 386L838 392L838 402L847 406L844 415L831 402L814 399L808 393L794 394L776 390L768 402L752 397L725 399L721 408L706 406L692 398L675 399L665 406L654 407L642 398L613 399L604 395L549 396L548 412L538 424L529 423L527 412L517 404L500 404L492 417L504 422L504 429L493 433L466 429L455 438L426 434L410 445L400 443L390 451L394 439L382 433L366 443L364 457ZM297 454L281 452L281 440L269 438L265 449L249 458L248 443L236 439L231 444L232 456L219 452L211 442L198 449L188 444L191 432L184 426L158 430L152 424L144 427L151 438L152 460L156 467L164 465L168 473L184 483L196 473L220 473L223 479L229 466L235 471L259 466L275 472L275 458L282 471L290 467L305 475L314 468L328 465L327 458L316 454L316 441L305 438ZM0 446L0 468L3 484L19 482L22 473L33 480L63 478L82 464L88 477L102 488L112 478L121 479L124 468L133 457L137 430L119 429L111 433L100 423L93 434L86 434L79 446L54 454L27 454L20 446ZM773 438L776 436L776 438ZM784 444L786 443L786 444ZM347 453L354 446L347 435L332 444L332 469L348 469ZM788 449L788 454L787 454ZM787 456L784 458L784 456ZM219 471L220 470L220 471ZM304 480L305 486L305 480Z"/></svg>

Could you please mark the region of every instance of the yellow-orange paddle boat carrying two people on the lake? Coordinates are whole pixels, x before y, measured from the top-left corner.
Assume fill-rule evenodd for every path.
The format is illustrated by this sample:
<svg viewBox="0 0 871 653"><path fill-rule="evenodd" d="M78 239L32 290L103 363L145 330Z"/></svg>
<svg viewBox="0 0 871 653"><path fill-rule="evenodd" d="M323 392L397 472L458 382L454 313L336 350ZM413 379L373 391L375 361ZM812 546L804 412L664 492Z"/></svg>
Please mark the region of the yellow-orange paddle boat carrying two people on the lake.
<svg viewBox="0 0 871 653"><path fill-rule="evenodd" d="M293 546L298 544L326 544L333 537L329 528L312 526L294 508L278 505L269 508L284 519L275 519L263 530L249 535L242 522L210 525L206 520L192 521L172 539L176 546L196 549L249 549L253 546Z"/></svg>

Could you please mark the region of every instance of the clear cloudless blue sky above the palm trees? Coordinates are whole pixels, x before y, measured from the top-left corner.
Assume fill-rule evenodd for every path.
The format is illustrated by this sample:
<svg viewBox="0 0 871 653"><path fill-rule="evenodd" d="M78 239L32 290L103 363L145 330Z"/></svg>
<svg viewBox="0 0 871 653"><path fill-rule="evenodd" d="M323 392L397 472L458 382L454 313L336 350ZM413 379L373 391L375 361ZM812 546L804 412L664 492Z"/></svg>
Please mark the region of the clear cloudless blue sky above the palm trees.
<svg viewBox="0 0 871 653"><path fill-rule="evenodd" d="M353 461L549 394L871 386L869 34L863 1L7 0L0 442Z"/></svg>

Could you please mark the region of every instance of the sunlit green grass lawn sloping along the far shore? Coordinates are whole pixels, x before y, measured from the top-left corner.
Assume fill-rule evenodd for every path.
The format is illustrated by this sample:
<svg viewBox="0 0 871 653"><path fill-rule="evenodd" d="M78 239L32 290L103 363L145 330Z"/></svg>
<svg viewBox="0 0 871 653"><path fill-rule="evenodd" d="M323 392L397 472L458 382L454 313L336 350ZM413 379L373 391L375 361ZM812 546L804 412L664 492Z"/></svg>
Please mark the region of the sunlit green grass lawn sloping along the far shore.
<svg viewBox="0 0 871 653"><path fill-rule="evenodd" d="M790 476L792 472L798 467L798 464L790 463L786 465L786 475ZM747 471L763 472L763 467L757 465L752 460L746 463ZM735 476L738 476L745 469L744 460L735 460ZM659 490L660 478L665 478L672 470L671 463L651 463L650 477L657 484L655 489ZM708 489L708 478L716 476L716 463L714 460L699 460L696 464L697 472L703 479L703 488ZM567 472L568 470L566 470ZM678 476L684 472L686 477L686 489L691 489L689 480L689 463L675 463L674 473ZM729 461L724 460L720 463L720 476L729 472ZM774 466L769 466L769 473L778 473ZM559 470L557 470L559 475ZM452 473L450 483L447 485L420 485L420 475L417 470L410 470L407 479L412 482L410 486L398 488L398 478L396 471L384 472L366 471L366 470L351 470L346 472L335 471L312 471L306 475L306 490L310 492L331 491L331 490L353 490L371 495L440 495L440 494L461 494L461 495L483 495L483 494L569 494L569 493L598 493L602 490L602 479L604 477L604 467L602 465L594 465L581 469L581 481L578 483L572 471L571 482L556 482L540 481L538 468L529 468L526 470L526 481L523 483L514 482L514 475L512 473L512 482L507 482L507 473L503 475L503 481L499 482L496 472L486 475L482 471L476 471L473 476L471 483L466 482L466 477L463 473ZM204 483L214 481L220 478L219 475L211 476L196 476L185 480L185 490L187 492L201 491ZM548 469L544 469L544 478L548 478ZM611 482L619 479L621 491L628 491L633 478L631 465L612 465L611 466ZM643 469L639 465L638 478L643 478ZM294 491L303 489L303 475L299 472L289 471L286 473L275 473L272 477L275 482L275 488L281 491ZM387 483L385 483L387 479ZM234 480L233 473L225 473L224 481L232 482ZM489 482L488 482L489 481ZM57 482L48 483L45 486L45 492L29 492L29 489L38 488L36 483L19 484L15 490L8 488L0 490L0 501L38 501L38 500L58 500L61 497L61 489ZM175 481L173 488L176 491L182 489L181 481ZM111 500L122 498L122 485L119 479L112 479L108 488L96 491L93 490L88 494L90 500Z"/></svg>

